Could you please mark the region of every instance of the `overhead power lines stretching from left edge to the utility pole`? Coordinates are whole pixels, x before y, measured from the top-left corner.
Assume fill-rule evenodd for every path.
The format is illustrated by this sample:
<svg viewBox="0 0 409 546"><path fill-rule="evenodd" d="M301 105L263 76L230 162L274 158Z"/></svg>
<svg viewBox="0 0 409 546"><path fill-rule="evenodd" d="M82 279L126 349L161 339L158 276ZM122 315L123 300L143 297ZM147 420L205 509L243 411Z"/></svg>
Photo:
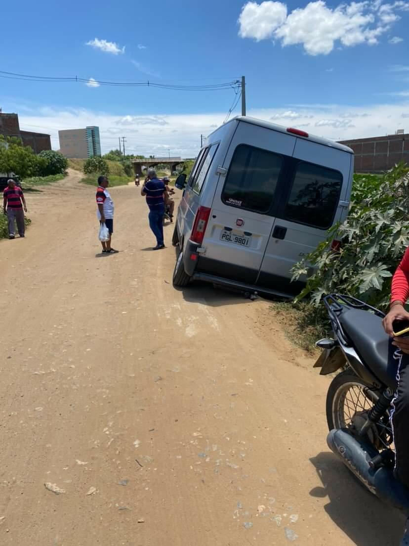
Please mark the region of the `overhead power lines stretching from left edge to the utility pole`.
<svg viewBox="0 0 409 546"><path fill-rule="evenodd" d="M0 70L0 78L11 80L25 80L25 81L38 81L48 83L89 83L89 78L81 78L79 76L38 76L29 74L18 74L14 72L5 72ZM98 86L114 86L114 87L156 87L160 89L168 89L173 91L222 91L225 89L236 89L240 87L240 80L231 80L222 84L207 84L207 85L171 85L171 84L158 84L152 81L139 81L139 82L125 82L125 81L106 81L106 80L92 80L94 85Z"/></svg>

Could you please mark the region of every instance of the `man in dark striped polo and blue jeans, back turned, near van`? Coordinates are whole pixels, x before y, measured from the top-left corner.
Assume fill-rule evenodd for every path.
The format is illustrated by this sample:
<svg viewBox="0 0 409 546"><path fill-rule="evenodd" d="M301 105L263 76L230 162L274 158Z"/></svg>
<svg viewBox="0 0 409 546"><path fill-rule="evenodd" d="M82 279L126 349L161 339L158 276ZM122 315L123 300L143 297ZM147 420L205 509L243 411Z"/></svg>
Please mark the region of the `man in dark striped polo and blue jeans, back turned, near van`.
<svg viewBox="0 0 409 546"><path fill-rule="evenodd" d="M165 248L163 218L165 216L165 184L158 180L155 169L148 169L148 179L142 186L141 195L146 196L149 207L149 227L156 237L157 245L152 250Z"/></svg>

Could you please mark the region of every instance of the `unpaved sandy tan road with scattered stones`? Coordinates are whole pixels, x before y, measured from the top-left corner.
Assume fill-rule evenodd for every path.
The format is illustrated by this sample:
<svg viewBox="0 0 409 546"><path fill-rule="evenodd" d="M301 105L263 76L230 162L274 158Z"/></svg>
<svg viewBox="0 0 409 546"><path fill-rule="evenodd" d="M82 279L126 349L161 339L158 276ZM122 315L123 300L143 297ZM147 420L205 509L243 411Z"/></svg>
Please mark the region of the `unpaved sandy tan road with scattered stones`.
<svg viewBox="0 0 409 546"><path fill-rule="evenodd" d="M268 302L175 290L173 228L147 250L133 186L111 190L122 252L99 254L77 180L27 194L26 239L0 244L0 544L397 544Z"/></svg>

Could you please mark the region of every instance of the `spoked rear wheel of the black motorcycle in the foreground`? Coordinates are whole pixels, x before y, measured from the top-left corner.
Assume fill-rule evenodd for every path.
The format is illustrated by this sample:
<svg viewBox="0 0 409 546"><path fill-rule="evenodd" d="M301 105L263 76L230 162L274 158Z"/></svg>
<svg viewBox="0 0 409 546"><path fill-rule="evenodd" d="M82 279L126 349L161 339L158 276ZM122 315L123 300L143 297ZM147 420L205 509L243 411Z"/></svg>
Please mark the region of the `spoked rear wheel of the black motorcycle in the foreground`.
<svg viewBox="0 0 409 546"><path fill-rule="evenodd" d="M329 430L349 429L351 434L357 434L379 395L379 391L365 383L351 369L339 373L329 385L327 394L326 410ZM378 450L390 446L392 429L387 415L376 425L371 426L368 439Z"/></svg>

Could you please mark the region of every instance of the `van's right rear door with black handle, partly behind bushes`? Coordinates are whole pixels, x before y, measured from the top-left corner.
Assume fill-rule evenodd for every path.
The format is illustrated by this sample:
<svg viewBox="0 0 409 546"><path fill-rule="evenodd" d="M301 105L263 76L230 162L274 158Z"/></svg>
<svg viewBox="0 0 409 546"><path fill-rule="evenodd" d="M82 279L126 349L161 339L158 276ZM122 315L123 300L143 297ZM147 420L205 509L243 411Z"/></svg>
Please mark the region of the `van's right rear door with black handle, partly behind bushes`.
<svg viewBox="0 0 409 546"><path fill-rule="evenodd" d="M306 277L291 283L291 268L315 250L326 239L327 230L341 219L351 164L352 155L348 152L297 139L258 286L282 292L300 291Z"/></svg>

